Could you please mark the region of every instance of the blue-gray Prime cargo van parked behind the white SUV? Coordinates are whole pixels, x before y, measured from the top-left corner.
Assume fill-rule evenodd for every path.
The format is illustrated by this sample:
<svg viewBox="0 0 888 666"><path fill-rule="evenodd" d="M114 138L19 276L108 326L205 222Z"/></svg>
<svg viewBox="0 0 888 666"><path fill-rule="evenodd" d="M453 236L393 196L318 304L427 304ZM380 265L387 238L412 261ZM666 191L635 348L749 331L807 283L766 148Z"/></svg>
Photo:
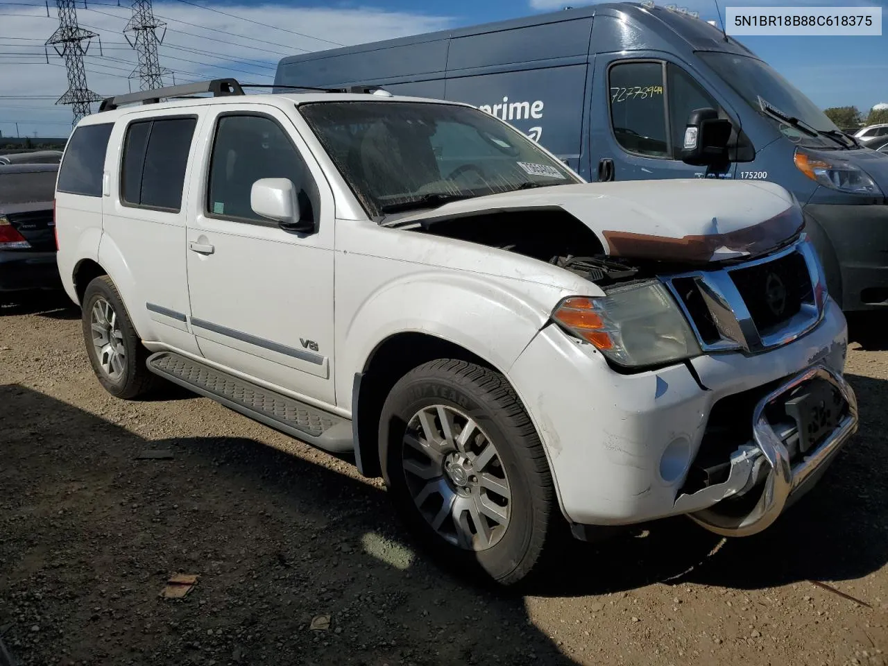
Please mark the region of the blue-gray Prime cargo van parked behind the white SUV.
<svg viewBox="0 0 888 666"><path fill-rule="evenodd" d="M723 176L789 189L836 301L845 311L888 308L888 156L861 147L767 63L693 15L598 4L290 56L275 85L372 85L466 102L588 180L711 175L683 162L682 147L691 112L715 109L733 124Z"/></svg>

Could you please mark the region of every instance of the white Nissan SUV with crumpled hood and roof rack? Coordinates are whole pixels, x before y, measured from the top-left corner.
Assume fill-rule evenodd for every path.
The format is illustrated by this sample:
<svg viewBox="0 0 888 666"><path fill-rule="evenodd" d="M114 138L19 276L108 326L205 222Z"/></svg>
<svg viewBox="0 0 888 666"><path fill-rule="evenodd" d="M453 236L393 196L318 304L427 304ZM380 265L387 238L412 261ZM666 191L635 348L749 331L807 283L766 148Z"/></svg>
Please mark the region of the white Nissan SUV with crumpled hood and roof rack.
<svg viewBox="0 0 888 666"><path fill-rule="evenodd" d="M857 427L780 186L588 184L491 115L381 92L102 109L56 194L101 384L163 377L353 451L420 541L501 583L562 516L756 533Z"/></svg>

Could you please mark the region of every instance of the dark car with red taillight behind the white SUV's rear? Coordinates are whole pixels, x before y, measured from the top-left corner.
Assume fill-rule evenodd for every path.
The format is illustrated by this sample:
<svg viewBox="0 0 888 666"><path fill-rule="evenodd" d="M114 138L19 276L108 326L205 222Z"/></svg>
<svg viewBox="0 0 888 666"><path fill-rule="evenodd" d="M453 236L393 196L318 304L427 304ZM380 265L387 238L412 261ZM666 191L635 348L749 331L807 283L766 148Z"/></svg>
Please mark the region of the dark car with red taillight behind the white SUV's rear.
<svg viewBox="0 0 888 666"><path fill-rule="evenodd" d="M55 196L58 164L0 165L0 303L59 289Z"/></svg>

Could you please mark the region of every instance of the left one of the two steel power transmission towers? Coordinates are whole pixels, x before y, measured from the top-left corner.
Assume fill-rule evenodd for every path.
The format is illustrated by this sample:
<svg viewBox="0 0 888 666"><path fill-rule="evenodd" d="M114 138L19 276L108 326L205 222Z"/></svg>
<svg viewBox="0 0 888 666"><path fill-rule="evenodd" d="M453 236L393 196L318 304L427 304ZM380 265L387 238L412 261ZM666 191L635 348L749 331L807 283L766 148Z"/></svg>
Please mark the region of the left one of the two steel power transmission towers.
<svg viewBox="0 0 888 666"><path fill-rule="evenodd" d="M59 57L65 59L67 69L67 92L59 97L56 104L70 104L74 109L74 123L84 115L89 115L90 102L102 99L86 86L86 70L83 68L83 56L90 48L90 41L97 37L96 33L84 30L77 25L75 0L56 0L59 9L59 28L46 40Z"/></svg>

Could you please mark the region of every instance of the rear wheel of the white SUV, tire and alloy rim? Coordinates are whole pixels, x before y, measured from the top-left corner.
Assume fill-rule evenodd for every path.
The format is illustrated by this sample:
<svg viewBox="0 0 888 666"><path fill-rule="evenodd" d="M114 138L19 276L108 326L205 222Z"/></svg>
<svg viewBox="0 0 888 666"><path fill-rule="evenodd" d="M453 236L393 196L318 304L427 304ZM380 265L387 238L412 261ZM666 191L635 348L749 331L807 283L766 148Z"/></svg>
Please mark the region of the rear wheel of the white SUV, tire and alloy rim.
<svg viewBox="0 0 888 666"><path fill-rule="evenodd" d="M153 392L162 381L147 369L147 349L132 325L123 298L107 275L92 280L83 293L83 342L99 383L116 398L133 400ZM96 327L103 327L104 331ZM111 338L117 345L109 344ZM97 345L104 343L103 349Z"/></svg>

